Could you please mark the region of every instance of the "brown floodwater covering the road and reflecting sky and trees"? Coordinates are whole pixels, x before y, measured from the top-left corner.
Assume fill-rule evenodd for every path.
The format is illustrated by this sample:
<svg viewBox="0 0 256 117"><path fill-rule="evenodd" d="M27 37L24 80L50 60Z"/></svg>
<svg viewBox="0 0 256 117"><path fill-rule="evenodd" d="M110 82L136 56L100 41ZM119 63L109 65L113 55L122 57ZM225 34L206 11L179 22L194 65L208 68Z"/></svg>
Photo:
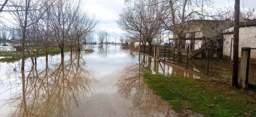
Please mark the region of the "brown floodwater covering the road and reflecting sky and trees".
<svg viewBox="0 0 256 117"><path fill-rule="evenodd" d="M43 117L175 117L171 105L154 94L144 70L200 78L182 69L120 46L85 45L95 52L66 52L0 62L0 116Z"/></svg>

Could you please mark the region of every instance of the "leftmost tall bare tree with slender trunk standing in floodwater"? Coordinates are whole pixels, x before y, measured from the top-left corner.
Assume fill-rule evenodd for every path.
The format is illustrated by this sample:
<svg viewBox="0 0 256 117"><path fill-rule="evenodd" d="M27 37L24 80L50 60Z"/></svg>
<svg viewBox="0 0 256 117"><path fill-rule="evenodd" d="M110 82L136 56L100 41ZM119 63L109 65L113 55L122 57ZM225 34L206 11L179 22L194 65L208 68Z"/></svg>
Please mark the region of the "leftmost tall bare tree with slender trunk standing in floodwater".
<svg viewBox="0 0 256 117"><path fill-rule="evenodd" d="M25 43L27 27L33 25L38 20L40 20L43 14L46 12L46 10L52 5L51 4L49 6L45 6L44 3L47 1L48 0L10 0L11 7L8 7L10 9L9 11L12 13L14 19L16 19L16 23L21 29L20 32L22 32L21 70L24 70L25 65Z"/></svg>

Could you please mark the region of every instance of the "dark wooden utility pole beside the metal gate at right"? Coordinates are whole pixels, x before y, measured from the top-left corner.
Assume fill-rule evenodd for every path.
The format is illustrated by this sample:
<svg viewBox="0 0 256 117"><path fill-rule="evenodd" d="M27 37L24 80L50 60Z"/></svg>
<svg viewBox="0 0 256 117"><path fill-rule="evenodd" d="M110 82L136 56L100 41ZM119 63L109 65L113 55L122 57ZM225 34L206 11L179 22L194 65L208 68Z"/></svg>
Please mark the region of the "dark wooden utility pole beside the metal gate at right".
<svg viewBox="0 0 256 117"><path fill-rule="evenodd" d="M240 0L235 0L232 86L238 87Z"/></svg>

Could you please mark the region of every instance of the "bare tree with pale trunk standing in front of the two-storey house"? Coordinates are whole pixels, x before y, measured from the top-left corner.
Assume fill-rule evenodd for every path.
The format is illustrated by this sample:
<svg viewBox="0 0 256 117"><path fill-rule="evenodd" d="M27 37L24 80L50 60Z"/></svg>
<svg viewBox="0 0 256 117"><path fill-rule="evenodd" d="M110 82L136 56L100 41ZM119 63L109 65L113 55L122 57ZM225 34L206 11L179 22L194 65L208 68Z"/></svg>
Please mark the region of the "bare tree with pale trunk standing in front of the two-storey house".
<svg viewBox="0 0 256 117"><path fill-rule="evenodd" d="M162 4L164 8L169 10L170 14L165 14L162 17L162 22L166 29L171 30L176 35L175 41L178 43L178 62L182 61L182 46L185 44L186 21L192 19L217 19L216 17L230 13L231 9L226 9L223 14L219 14L218 10L214 9L214 4L210 0L194 1L194 0L160 0L157 3L146 4L154 6ZM217 15L214 15L217 13ZM169 24L167 24L169 23ZM169 26L171 24L171 26Z"/></svg>

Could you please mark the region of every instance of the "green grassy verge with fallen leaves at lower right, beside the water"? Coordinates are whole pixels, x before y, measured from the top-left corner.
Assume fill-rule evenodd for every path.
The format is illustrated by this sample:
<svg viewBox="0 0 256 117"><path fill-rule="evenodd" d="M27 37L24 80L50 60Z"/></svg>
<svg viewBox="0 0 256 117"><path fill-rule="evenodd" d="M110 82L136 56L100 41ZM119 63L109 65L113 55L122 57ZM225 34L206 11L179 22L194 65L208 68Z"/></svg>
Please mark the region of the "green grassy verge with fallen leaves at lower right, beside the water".
<svg viewBox="0 0 256 117"><path fill-rule="evenodd" d="M205 117L256 116L255 93L251 97L241 89L213 85L212 81L202 79L150 73L145 73L144 77L149 87L169 101L177 112L190 109Z"/></svg>

